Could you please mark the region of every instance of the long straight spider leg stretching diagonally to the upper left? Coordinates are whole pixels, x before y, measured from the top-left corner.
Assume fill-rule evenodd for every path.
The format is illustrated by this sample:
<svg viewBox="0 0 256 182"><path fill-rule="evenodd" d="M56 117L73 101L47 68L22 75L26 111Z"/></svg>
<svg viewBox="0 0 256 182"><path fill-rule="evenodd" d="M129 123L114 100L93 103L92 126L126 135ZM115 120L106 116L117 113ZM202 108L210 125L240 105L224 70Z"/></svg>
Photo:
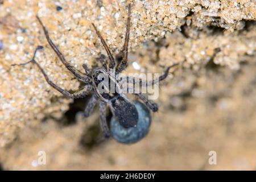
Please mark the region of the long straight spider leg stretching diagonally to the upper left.
<svg viewBox="0 0 256 182"><path fill-rule="evenodd" d="M63 56L63 54L60 52L59 48L57 48L55 46L55 44L52 42L51 38L49 38L49 34L48 31L46 30L46 27L44 26L44 24L42 23L41 19L39 18L39 16L36 16L36 18L38 19L39 23L41 24L41 26L43 27L43 31L44 31L44 35L46 36L47 42L49 43L49 45L52 47L53 51L56 53L56 55L59 57L60 61L65 65L65 67L71 72L73 73L73 75L79 79L82 82L89 82L90 78L88 76L81 76L80 71L78 71L77 69L75 69L74 67L72 67L71 64L68 63L68 61L65 59L65 57Z"/></svg>

